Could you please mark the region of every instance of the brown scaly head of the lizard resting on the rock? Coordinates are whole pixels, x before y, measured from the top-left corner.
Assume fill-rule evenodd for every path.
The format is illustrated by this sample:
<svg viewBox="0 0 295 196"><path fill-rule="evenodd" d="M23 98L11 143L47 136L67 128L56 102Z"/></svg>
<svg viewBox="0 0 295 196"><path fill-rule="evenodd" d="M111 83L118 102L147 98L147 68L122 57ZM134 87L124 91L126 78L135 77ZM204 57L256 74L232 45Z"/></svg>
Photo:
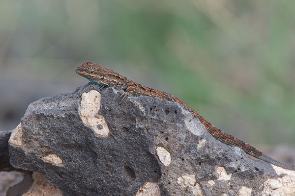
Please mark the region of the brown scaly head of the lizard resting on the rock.
<svg viewBox="0 0 295 196"><path fill-rule="evenodd" d="M102 86L110 85L125 79L125 77L113 70L90 61L85 61L82 65L77 67L76 73Z"/></svg>

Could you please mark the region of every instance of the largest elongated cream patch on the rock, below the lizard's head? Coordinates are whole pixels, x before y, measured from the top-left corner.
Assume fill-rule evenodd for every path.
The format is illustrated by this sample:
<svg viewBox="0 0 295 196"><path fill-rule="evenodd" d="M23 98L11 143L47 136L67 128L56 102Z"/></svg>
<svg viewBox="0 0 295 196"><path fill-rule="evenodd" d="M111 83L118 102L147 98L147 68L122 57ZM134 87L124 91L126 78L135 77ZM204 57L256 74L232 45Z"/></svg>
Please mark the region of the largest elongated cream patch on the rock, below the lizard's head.
<svg viewBox="0 0 295 196"><path fill-rule="evenodd" d="M101 95L98 91L91 90L81 96L79 108L83 123L91 128L97 137L107 137L110 134L109 127L102 115L98 114L101 106Z"/></svg>

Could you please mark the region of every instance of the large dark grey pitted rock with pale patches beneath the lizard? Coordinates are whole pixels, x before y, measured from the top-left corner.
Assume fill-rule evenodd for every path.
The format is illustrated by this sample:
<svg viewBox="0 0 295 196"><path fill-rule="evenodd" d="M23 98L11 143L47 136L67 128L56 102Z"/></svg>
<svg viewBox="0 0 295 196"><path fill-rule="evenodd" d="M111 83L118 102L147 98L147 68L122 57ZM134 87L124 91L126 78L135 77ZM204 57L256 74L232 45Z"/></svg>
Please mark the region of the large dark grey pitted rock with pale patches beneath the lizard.
<svg viewBox="0 0 295 196"><path fill-rule="evenodd" d="M215 140L178 103L87 84L28 107L9 142L13 167L64 196L294 195L295 172Z"/></svg>

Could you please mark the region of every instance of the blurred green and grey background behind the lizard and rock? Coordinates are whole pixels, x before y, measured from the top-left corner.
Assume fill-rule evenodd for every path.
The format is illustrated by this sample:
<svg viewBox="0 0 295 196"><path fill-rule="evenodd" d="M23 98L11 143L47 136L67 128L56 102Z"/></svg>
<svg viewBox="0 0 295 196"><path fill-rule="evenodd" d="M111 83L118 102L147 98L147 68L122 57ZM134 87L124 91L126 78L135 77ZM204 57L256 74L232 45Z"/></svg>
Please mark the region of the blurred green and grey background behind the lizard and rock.
<svg viewBox="0 0 295 196"><path fill-rule="evenodd" d="M1 0L0 15L0 129L86 84L90 60L248 143L295 145L294 0Z"/></svg>

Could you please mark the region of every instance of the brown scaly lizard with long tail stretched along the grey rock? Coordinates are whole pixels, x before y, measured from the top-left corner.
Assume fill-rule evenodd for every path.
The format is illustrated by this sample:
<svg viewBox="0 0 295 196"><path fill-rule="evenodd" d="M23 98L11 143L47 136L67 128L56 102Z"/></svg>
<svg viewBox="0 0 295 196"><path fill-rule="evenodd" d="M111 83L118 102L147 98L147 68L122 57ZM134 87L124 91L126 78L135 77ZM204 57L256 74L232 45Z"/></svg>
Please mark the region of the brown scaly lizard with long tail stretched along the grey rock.
<svg viewBox="0 0 295 196"><path fill-rule="evenodd" d="M206 130L218 141L229 146L239 147L243 151L245 151L246 154L251 155L257 159L266 161L270 164L279 166L284 169L295 171L295 166L281 163L263 154L261 151L257 150L255 147L252 147L249 144L218 129L217 127L209 123L201 115L199 115L197 112L195 112L193 109L191 109L184 102L182 102L180 99L176 98L172 94L168 94L162 91L158 91L158 90L143 86L139 83L132 81L131 79L128 79L127 77L123 75L120 75L114 72L113 70L107 67L104 67L96 63L92 63L90 61L85 61L82 65L77 67L76 73L78 73L79 75L87 78L89 81L100 86L119 87L124 91L124 94L123 94L124 96L125 95L133 96L133 97L149 96L153 98L161 98L161 99L166 99L169 101L175 101L179 103L180 105L182 105L184 108L186 108L188 111L190 111L195 117L197 117L200 120L200 122L205 126Z"/></svg>

